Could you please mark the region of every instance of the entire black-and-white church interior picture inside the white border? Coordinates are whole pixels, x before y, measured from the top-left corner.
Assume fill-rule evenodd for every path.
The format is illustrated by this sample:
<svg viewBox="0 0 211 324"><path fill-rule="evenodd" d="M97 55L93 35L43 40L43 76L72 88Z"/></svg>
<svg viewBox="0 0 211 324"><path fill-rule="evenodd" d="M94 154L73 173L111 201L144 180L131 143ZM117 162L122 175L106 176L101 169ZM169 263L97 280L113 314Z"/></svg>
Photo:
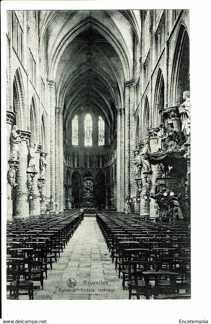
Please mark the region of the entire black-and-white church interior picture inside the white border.
<svg viewBox="0 0 211 324"><path fill-rule="evenodd" d="M188 10L8 10L7 299L190 299Z"/></svg>

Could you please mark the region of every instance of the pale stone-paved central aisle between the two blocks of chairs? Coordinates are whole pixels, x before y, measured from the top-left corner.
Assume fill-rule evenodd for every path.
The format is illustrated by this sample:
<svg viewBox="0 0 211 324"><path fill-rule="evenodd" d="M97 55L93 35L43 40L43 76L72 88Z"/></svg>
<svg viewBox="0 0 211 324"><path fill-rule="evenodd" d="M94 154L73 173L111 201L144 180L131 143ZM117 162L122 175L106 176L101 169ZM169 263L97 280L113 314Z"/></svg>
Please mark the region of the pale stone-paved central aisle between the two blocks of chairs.
<svg viewBox="0 0 211 324"><path fill-rule="evenodd" d="M48 273L44 290L35 290L34 299L128 299L95 217L84 218ZM74 288L67 285L71 278Z"/></svg>

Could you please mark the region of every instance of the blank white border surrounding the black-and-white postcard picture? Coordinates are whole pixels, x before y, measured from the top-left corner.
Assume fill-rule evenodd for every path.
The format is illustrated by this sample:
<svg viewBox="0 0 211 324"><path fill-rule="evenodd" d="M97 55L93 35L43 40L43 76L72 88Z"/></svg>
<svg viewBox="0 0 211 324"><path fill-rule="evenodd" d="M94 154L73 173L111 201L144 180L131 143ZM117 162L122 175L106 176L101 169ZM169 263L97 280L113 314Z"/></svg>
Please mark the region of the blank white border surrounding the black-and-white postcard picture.
<svg viewBox="0 0 211 324"><path fill-rule="evenodd" d="M191 300L6 300L6 10L190 9ZM210 6L205 1L1 1L2 67L2 318L54 323L163 323L210 316ZM1 320L2 321L2 320Z"/></svg>

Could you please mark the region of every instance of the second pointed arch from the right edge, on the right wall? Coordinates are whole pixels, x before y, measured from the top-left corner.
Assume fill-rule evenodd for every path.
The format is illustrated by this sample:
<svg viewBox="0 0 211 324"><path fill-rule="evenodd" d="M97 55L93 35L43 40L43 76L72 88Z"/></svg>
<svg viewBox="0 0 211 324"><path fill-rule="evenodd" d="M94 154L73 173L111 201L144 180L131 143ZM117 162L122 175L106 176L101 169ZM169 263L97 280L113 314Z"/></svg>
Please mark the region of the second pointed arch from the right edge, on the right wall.
<svg viewBox="0 0 211 324"><path fill-rule="evenodd" d="M154 102L154 126L157 127L160 124L160 113L164 109L164 95L165 95L165 86L163 73L158 68L158 75L155 87L155 102Z"/></svg>

